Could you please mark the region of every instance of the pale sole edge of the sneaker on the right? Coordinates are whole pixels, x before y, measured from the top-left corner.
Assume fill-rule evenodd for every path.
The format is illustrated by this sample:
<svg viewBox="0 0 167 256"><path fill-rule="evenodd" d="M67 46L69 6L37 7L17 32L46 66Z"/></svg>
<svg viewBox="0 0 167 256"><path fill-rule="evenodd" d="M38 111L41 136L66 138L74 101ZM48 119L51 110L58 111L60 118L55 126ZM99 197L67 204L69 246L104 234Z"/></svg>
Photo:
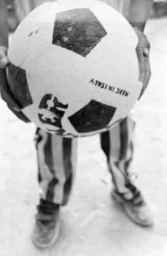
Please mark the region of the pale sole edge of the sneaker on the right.
<svg viewBox="0 0 167 256"><path fill-rule="evenodd" d="M144 221L140 221L136 218L134 218L134 215L132 215L131 211L129 211L129 208L126 207L126 205L124 204L124 201L122 200L122 198L120 198L120 196L116 195L116 193L114 193L113 191L111 192L111 196L112 198L122 204L123 208L125 209L125 212L127 214L127 216L129 217L130 220L132 220L134 223L138 224L139 226L142 226L142 227L150 227L153 225L153 221L150 220L150 222L144 222Z"/></svg>

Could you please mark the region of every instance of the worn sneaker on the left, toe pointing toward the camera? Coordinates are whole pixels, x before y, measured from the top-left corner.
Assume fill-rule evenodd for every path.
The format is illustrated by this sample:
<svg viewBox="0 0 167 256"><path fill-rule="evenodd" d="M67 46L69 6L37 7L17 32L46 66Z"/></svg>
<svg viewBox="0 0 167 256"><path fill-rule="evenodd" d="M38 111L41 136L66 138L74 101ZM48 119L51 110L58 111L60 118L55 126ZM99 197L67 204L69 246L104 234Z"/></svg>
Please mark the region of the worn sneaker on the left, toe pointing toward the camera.
<svg viewBox="0 0 167 256"><path fill-rule="evenodd" d="M39 248L47 248L58 238L60 205L41 199L37 211L33 243Z"/></svg>

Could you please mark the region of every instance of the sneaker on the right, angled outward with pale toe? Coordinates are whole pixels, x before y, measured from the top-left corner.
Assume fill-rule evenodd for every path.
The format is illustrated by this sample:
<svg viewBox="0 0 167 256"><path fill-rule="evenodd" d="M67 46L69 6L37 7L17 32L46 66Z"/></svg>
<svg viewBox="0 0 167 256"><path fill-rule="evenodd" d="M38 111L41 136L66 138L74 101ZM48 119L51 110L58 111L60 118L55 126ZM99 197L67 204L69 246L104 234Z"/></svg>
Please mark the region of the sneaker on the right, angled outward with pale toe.
<svg viewBox="0 0 167 256"><path fill-rule="evenodd" d="M149 227L154 223L152 212L143 199L140 191L138 191L136 187L134 188L135 189L132 191L134 196L131 200L126 199L122 193L118 193L116 190L111 192L111 196L116 202L123 205L127 216L134 221L134 223L143 227Z"/></svg>

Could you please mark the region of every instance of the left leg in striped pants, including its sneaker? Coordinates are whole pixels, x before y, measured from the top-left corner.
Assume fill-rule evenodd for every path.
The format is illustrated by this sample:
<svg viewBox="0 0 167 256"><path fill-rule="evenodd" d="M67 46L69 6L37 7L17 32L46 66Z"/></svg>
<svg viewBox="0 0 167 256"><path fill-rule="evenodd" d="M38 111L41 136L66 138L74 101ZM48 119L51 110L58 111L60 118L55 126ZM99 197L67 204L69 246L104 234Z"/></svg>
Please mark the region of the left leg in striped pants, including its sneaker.
<svg viewBox="0 0 167 256"><path fill-rule="evenodd" d="M68 202L76 172L77 140L36 131L38 180L42 190L33 243L51 246L59 234L60 205Z"/></svg>

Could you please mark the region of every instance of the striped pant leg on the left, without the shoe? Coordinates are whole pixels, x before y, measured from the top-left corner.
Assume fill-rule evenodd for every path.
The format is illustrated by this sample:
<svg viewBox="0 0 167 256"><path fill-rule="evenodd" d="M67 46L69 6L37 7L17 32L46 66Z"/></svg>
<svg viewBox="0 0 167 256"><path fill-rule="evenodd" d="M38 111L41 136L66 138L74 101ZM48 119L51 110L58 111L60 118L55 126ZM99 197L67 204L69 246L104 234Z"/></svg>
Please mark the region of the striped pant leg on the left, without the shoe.
<svg viewBox="0 0 167 256"><path fill-rule="evenodd" d="M76 172L77 139L36 130L38 180L42 198L55 204L68 202Z"/></svg>

